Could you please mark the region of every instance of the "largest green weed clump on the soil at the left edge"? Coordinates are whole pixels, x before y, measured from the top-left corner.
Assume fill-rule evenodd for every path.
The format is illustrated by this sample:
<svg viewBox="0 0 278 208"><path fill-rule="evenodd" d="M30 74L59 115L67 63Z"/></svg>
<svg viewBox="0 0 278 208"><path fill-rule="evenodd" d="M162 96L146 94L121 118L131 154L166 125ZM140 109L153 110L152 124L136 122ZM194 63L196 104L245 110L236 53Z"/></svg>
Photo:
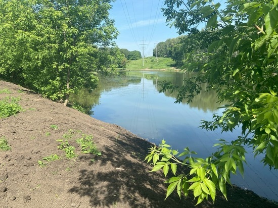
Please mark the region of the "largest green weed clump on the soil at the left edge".
<svg viewBox="0 0 278 208"><path fill-rule="evenodd" d="M0 100L0 118L6 118L16 115L22 111L21 106L18 104L20 97L5 97Z"/></svg>

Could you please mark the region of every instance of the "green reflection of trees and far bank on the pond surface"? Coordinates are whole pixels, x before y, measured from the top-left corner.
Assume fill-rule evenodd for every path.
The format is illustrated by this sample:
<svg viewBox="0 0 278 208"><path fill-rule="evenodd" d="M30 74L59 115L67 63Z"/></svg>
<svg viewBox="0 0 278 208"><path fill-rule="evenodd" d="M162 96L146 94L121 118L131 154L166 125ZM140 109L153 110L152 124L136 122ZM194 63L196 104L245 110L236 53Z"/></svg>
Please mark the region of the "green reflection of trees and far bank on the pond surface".
<svg viewBox="0 0 278 208"><path fill-rule="evenodd" d="M156 72L156 71L122 71L118 74L108 74L102 75L99 74L99 86L94 89L92 92L89 92L86 89L80 90L78 93L71 95L70 102L77 103L78 105L85 108L87 112L89 112L92 108L99 105L99 99L101 97L102 92L111 91L112 89L117 89L121 87L126 87L129 84L137 84L140 83L142 78L148 80L153 80L153 84L156 89L159 90L159 82L160 81L170 81L174 85L181 86L183 84L183 80L188 77L192 77L194 74L184 74L181 72ZM189 103L191 108L198 108L199 110L207 111L215 111L221 105L218 103L218 99L216 97L216 92L211 90L205 92L206 85L202 85L202 92L195 96L193 101ZM168 97L176 97L176 93L164 92L165 96ZM183 104L187 104L187 100L182 100ZM92 113L91 113L92 115Z"/></svg>

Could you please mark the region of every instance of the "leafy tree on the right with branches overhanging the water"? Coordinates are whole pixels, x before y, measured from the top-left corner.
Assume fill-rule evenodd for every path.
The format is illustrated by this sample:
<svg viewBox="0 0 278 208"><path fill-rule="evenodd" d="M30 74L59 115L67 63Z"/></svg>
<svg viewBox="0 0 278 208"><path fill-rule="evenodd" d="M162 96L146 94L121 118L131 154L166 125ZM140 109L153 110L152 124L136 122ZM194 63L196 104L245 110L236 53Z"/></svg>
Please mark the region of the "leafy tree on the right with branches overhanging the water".
<svg viewBox="0 0 278 208"><path fill-rule="evenodd" d="M187 98L189 102L206 82L206 90L215 90L219 101L226 101L222 115L213 115L212 121L202 121L202 128L222 131L242 129L231 142L220 139L218 150L206 159L194 158L188 147L178 153L169 149L163 140L159 147L152 147L147 162L153 162L152 171L169 169L176 174L177 165L190 167L184 173L167 180L166 197L174 189L179 196L193 191L201 203L208 195L215 199L216 189L226 196L226 183L230 174L238 171L243 175L243 163L247 147L255 155L262 154L264 165L278 168L278 1L231 1L220 9L220 3L212 1L165 0L164 15L180 34L188 32L196 39L197 26L205 24L203 34L219 36L207 47L206 53L188 54L184 70L199 70L181 87L169 82L162 83L162 91L177 91L176 102ZM213 36L213 35L212 35ZM202 43L204 46L205 44ZM193 56L193 57L192 57ZM207 62L199 62L206 57ZM198 60L198 61L195 61ZM185 157L178 160L178 157Z"/></svg>

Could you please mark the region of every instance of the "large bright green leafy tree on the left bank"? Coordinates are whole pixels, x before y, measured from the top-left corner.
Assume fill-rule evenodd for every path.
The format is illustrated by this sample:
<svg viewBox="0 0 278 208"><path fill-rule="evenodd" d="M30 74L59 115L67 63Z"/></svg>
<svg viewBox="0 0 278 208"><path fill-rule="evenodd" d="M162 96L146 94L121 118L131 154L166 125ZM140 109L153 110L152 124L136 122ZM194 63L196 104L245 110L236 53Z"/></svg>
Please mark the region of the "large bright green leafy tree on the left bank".
<svg viewBox="0 0 278 208"><path fill-rule="evenodd" d="M65 105L77 89L97 86L91 72L97 70L98 48L113 44L118 34L109 19L110 0L0 4L0 43L5 48L0 74Z"/></svg>

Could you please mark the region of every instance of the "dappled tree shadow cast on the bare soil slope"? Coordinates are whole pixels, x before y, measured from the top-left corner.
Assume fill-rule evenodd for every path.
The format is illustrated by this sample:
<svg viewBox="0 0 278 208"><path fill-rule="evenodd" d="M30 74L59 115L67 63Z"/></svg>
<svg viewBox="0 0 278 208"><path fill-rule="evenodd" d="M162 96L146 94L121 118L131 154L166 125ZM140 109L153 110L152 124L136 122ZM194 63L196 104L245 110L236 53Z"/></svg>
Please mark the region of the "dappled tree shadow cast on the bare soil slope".
<svg viewBox="0 0 278 208"><path fill-rule="evenodd" d="M190 204L184 198L179 199L177 194L164 200L166 188L162 173L150 173L151 167L142 160L150 143L121 135L114 145L102 151L102 157L92 164L92 170L80 170L80 185L69 192L89 196L93 207L116 204L121 204L120 207L180 207Z"/></svg>

